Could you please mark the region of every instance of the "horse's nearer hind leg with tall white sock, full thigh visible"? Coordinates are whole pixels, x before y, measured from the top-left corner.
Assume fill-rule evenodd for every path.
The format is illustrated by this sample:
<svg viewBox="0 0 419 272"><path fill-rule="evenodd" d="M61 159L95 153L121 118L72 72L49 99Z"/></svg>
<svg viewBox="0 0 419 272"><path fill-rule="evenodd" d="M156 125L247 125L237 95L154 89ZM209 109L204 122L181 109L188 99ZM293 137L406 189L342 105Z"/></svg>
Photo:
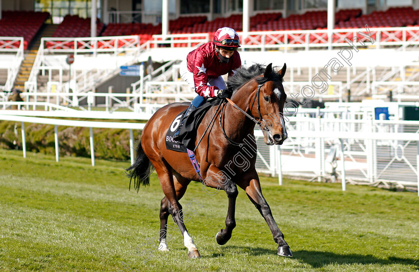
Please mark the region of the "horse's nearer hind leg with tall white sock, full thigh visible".
<svg viewBox="0 0 419 272"><path fill-rule="evenodd" d="M188 257L201 258L201 255L194 244L194 240L192 240L191 236L189 236L189 233L183 222L182 206L179 203L179 200L177 198L173 176L171 174L171 171L169 170L170 169L169 164L165 162L164 159L156 160L154 157L151 157L150 160L152 160L153 165L156 168L157 176L159 177L160 185L163 189L163 193L168 199L169 212L172 215L173 219L175 220L175 223L178 226L179 231L181 231L184 237L185 247L188 248ZM163 235L164 233L165 232L163 232ZM162 231L161 231L161 235L162 235Z"/></svg>

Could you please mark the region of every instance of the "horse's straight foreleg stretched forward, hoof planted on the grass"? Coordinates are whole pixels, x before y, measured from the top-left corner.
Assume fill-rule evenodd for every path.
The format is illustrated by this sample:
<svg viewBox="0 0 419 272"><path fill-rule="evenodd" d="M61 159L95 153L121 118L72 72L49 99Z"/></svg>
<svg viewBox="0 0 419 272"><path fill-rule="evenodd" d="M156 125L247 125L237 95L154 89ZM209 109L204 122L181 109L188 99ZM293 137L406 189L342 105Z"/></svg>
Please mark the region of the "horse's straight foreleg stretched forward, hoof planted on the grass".
<svg viewBox="0 0 419 272"><path fill-rule="evenodd" d="M246 192L250 201L254 204L256 209L268 224L269 229L272 232L273 240L278 244L278 255L292 257L291 250L289 249L287 242L284 240L284 235L279 230L278 225L276 225L271 209L262 195L256 171L249 175L248 178L244 178L242 181L237 182L237 185L239 185Z"/></svg>

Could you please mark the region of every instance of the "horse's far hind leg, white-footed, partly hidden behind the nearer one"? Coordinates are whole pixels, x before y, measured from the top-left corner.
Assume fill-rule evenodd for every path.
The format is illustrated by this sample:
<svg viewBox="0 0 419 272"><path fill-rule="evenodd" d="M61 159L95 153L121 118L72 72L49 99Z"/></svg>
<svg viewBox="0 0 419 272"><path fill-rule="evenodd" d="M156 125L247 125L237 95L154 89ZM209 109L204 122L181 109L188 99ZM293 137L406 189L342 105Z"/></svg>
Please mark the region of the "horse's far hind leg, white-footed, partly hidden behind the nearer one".
<svg viewBox="0 0 419 272"><path fill-rule="evenodd" d="M186 192L186 188L190 182L190 180L183 179L179 176L176 178L176 176L174 176L174 184L178 200L180 200L183 197L183 195ZM169 214L169 200L165 196L160 203L160 251L169 251L169 248L167 247L167 242L169 241L169 239L167 238L167 221L169 218Z"/></svg>

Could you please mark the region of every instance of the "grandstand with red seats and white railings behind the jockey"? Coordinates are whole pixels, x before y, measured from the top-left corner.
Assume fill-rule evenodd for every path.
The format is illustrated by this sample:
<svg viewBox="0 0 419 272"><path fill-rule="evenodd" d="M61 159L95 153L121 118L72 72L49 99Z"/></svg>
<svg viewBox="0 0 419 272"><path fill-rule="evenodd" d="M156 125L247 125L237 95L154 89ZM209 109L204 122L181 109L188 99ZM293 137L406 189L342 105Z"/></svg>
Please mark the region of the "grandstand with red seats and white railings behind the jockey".
<svg viewBox="0 0 419 272"><path fill-rule="evenodd" d="M271 2L275 1L271 0ZM308 4L312 3L305 1L305 6ZM368 24L370 29L375 28L371 32L375 43L358 47L368 48L370 51L372 49L387 49L388 51L382 52L387 52L397 61L390 60L387 65L375 60L372 60L373 63L369 61L368 65L357 62L351 68L352 70L347 67L346 73L342 71L334 73L333 80L328 80L343 82L343 84L338 84L343 87L336 85L341 89L340 94L337 94L336 90L329 90L330 94L334 94L317 99L326 101L361 100L372 97L372 86L378 86L374 90L378 90L375 95L383 97L391 90L394 93L399 92L401 87L382 88L378 82L417 80L419 70L415 64L418 61L415 48L419 42L417 29L419 10L414 9L413 6L390 8L376 6L376 10L369 13L364 7L340 8L338 6L334 12L332 35L330 35L330 30L327 30L328 11L326 6L319 6L315 9L302 8L301 10L288 10L287 8L260 10L256 9L256 4L253 9L250 8L249 14L252 15L248 17L247 27L250 32L240 32L243 64L258 59L255 57L255 52L263 52L263 54L258 54L262 60L269 59L268 55L273 54L266 52L284 53L280 56L286 60L289 59L288 67L290 67L291 73L287 75L286 81L293 83L290 87L291 90L303 82L311 81L312 77L326 64L319 59L326 58L326 61L327 58L330 59L331 57L327 57L328 54L330 55L329 50L340 50L342 47L348 46L345 38L352 39L354 33L356 35L356 32L365 32L365 25ZM119 67L144 63L150 56L153 60L158 60L154 63L156 68L159 63L162 65L171 61L175 66L166 67L164 72L160 72L162 75L165 74L161 78L176 82L179 80L179 76L175 76L172 71L177 69L176 63L182 59L180 56L185 56L188 51L192 50L192 47L205 42L205 39L210 40L218 27L227 25L237 31L243 31L243 22L245 22L242 13L237 13L234 10L226 12L225 16L215 13L203 15L199 12L197 14L180 14L178 12L178 16L174 17L170 13L170 17L173 19L168 20L167 32L162 35L162 31L164 31L162 23L164 22L161 20L164 14L163 17L160 16L160 19L159 16L155 17L156 20L152 22L153 16L150 15L150 12L141 11L143 12L140 12L142 21L138 17L135 19L132 17L131 21L120 22L118 16L123 12L119 10L109 12L102 10L100 17L103 19L96 20L86 16L89 12L61 15L62 11L61 19L53 20L53 18L57 18L56 14L52 14L53 12L55 11L39 5L31 11L1 11L0 36L3 37L0 38L0 53L7 56L4 57L7 61L3 62L0 67L0 84L5 91L15 87L30 92L51 90L66 92L69 89L74 92L106 92L106 81L111 80L123 82L120 87L115 88L115 92L126 92L126 89L131 86L130 84L135 83L138 78L119 76ZM52 21L60 23L52 24ZM94 30L91 29L92 26L95 27L94 33ZM201 36L197 36L199 33L202 33ZM11 39L11 37L23 38L23 59L21 56L19 57L19 54L22 54L18 50L19 40ZM361 38L364 42L368 41L365 37ZM174 48L178 48L176 49L179 50L178 53L173 54ZM133 50L137 50L137 52L134 53ZM163 52L165 50L172 51L165 53ZM307 59L307 56L313 55L310 52L315 52L317 60ZM76 59L72 65L71 79L69 67L65 63L65 57L68 54L75 55ZM380 52L370 52L366 54L366 58L380 54ZM402 55L404 61L401 60L402 57L398 57ZM135 56L135 59L129 59L128 56ZM166 59L163 60L162 56L166 56ZM356 62L356 60L354 61ZM104 63L106 65L103 65ZM7 69L7 67L14 67L17 64L19 65L18 72L12 71L10 68ZM280 64L280 62L277 63L277 65ZM10 84L11 81L13 84ZM7 86L6 82L8 82ZM147 86L143 84L142 90L131 89L131 92L148 92ZM412 94L416 92L415 87L407 89ZM182 92L189 92L189 90L185 88ZM31 99L45 100L41 96L35 97L33 96ZM168 99L166 102L170 101L172 100Z"/></svg>

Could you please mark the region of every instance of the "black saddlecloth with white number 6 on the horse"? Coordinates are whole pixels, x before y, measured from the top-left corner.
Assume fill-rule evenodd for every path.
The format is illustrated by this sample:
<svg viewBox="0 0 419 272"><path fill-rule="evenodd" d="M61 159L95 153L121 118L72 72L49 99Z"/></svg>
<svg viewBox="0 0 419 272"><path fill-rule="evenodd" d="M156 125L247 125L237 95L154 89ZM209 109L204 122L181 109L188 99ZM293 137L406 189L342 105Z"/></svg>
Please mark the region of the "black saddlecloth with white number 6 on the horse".
<svg viewBox="0 0 419 272"><path fill-rule="evenodd" d="M187 153L187 148L190 150L195 149L195 140L197 138L197 130L200 126L202 120L204 119L207 112L214 105L219 103L219 98L212 98L207 100L204 105L200 106L198 109L193 111L190 116L185 120L185 123L180 131L180 138L183 139L182 142L174 141L173 135L176 132L176 129L182 121L185 111L179 113L176 118L170 124L169 130L166 134L166 148L173 151Z"/></svg>

